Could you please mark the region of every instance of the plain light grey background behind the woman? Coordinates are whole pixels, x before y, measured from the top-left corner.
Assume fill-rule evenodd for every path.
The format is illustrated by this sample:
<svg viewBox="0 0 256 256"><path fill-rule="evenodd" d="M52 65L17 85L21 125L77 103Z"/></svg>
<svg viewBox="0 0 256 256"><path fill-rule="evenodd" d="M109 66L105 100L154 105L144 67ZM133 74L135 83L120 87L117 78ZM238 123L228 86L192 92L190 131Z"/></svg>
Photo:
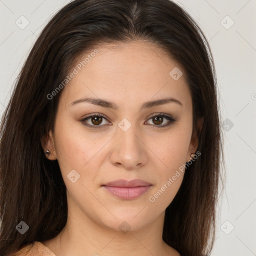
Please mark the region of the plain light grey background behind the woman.
<svg viewBox="0 0 256 256"><path fill-rule="evenodd" d="M0 0L0 116L37 35L67 2ZM176 2L208 38L218 78L226 183L212 255L256 255L256 0ZM15 24L21 15L29 21L24 29Z"/></svg>

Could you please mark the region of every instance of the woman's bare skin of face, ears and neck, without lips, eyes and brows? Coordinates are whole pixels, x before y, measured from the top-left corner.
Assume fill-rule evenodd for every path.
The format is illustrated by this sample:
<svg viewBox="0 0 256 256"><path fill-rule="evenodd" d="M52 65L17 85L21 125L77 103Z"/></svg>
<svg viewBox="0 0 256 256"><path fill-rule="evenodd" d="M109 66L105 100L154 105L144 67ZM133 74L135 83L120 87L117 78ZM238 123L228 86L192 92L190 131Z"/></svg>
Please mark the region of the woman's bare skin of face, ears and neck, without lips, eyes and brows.
<svg viewBox="0 0 256 256"><path fill-rule="evenodd" d="M56 256L180 255L164 243L162 229L165 209L184 173L180 172L154 202L148 198L197 148L198 137L192 134L192 99L184 75L178 80L169 75L174 67L182 67L156 45L144 41L96 48L99 52L62 89L54 132L41 139L43 149L51 152L48 159L59 162L68 203L65 227L42 243ZM114 102L118 109L89 102L70 106L83 97ZM173 97L182 105L169 102L140 110L145 101L164 97ZM166 118L153 122L150 114L159 112L176 121L159 127L168 123ZM99 129L80 121L93 113L107 117L98 122ZM126 131L118 126L123 118L131 124ZM92 118L84 123L93 125ZM202 120L197 124L199 130L201 125ZM74 183L67 178L72 169L80 174ZM101 187L119 178L139 178L152 186L141 196L124 200ZM123 221L130 228L126 233L118 228Z"/></svg>

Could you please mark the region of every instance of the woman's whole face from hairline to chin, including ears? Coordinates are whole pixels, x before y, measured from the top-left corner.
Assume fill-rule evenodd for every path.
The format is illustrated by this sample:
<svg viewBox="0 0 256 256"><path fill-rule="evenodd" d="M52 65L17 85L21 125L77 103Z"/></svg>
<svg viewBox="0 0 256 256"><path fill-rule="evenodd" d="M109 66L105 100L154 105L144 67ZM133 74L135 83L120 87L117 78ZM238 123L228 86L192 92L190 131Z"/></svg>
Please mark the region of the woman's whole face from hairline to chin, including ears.
<svg viewBox="0 0 256 256"><path fill-rule="evenodd" d="M164 213L182 182L180 166L196 151L191 95L182 67L153 44L113 43L97 50L74 65L54 132L42 143L51 151L49 160L59 162L69 213L110 229L121 223L137 229ZM183 75L173 79L173 68ZM157 101L167 98L172 100Z"/></svg>

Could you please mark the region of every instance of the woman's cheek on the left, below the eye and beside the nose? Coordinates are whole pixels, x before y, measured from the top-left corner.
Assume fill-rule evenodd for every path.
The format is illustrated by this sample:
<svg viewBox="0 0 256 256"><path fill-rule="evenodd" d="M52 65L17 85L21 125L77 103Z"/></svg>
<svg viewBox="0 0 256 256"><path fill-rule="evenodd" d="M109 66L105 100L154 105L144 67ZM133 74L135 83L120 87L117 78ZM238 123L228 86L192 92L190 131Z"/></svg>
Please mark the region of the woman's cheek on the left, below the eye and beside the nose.
<svg viewBox="0 0 256 256"><path fill-rule="evenodd" d="M105 159L102 153L109 136L99 137L97 132L86 132L79 122L60 120L56 122L55 134L57 160L67 190L71 194L76 194L77 198L80 196L79 193L89 194L88 190L94 189L92 187L98 182L98 172L95 170L100 168ZM71 173L79 177L75 183L68 179L73 176Z"/></svg>

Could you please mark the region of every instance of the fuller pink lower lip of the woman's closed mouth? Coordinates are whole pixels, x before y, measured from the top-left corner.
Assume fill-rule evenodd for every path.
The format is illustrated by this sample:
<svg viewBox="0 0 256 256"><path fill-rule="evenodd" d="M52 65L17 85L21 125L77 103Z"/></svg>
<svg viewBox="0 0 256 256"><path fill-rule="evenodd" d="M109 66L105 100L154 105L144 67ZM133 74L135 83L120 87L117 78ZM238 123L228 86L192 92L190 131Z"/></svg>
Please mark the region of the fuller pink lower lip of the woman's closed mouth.
<svg viewBox="0 0 256 256"><path fill-rule="evenodd" d="M148 186L136 186L136 187L118 187L118 186L103 186L111 194L124 199L131 200L139 197L143 193L147 192L151 185Z"/></svg>

